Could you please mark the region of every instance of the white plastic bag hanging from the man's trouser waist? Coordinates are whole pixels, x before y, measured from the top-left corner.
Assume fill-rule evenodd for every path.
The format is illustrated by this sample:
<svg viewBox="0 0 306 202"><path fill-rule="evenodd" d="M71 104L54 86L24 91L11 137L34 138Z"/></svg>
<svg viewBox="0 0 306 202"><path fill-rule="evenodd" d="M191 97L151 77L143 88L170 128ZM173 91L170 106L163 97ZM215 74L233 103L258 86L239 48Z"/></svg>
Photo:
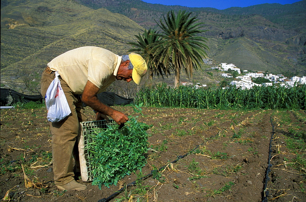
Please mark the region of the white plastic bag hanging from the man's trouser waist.
<svg viewBox="0 0 306 202"><path fill-rule="evenodd" d="M45 96L48 110L47 119L50 122L58 122L71 113L67 98L58 79L58 71L55 72L55 79L50 83Z"/></svg>

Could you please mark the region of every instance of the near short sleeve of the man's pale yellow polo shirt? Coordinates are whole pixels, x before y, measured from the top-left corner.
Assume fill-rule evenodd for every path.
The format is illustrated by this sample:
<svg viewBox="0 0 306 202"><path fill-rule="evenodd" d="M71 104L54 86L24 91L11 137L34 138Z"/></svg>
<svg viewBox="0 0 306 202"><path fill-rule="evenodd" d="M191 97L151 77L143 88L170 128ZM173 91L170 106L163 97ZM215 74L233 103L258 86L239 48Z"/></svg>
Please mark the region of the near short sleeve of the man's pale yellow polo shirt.
<svg viewBox="0 0 306 202"><path fill-rule="evenodd" d="M88 60L88 80L99 89L111 75L111 62L90 58Z"/></svg>

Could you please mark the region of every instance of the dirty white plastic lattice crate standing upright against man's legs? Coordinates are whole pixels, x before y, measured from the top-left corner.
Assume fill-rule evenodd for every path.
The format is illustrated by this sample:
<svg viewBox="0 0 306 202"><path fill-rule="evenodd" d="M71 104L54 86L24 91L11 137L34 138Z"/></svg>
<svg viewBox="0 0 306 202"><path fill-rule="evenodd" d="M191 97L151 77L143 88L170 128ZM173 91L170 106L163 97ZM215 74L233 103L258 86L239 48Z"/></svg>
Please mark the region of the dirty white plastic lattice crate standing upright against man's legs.
<svg viewBox="0 0 306 202"><path fill-rule="evenodd" d="M80 169L83 182L92 181L91 171L93 168L89 165L89 159L92 153L86 150L86 145L92 142L92 137L89 135L97 129L105 129L107 126L116 125L117 123L110 119L108 123L106 120L100 121L85 121L80 122L81 133L78 135L78 146L79 146L79 158L80 158Z"/></svg>

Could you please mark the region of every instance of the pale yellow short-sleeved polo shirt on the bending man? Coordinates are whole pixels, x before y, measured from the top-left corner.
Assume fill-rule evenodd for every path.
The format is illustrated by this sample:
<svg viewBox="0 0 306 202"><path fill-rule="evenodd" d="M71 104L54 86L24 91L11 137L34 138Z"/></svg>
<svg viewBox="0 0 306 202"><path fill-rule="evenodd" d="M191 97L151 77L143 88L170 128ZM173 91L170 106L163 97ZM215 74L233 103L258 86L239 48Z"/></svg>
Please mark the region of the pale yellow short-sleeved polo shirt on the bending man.
<svg viewBox="0 0 306 202"><path fill-rule="evenodd" d="M55 57L48 67L58 71L75 94L83 93L87 80L101 93L116 80L121 58L100 47L84 46Z"/></svg>

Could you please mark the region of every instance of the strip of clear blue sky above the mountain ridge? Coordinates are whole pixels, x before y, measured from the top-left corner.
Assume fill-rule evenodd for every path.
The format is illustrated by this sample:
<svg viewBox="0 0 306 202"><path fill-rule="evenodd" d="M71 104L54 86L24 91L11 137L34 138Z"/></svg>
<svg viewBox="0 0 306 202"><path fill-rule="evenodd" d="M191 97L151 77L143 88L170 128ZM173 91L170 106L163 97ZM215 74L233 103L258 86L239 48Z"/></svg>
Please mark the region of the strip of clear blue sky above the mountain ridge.
<svg viewBox="0 0 306 202"><path fill-rule="evenodd" d="M211 7L219 10L230 7L247 7L264 3L292 4L300 0L142 0L147 3L180 5L187 7Z"/></svg>

